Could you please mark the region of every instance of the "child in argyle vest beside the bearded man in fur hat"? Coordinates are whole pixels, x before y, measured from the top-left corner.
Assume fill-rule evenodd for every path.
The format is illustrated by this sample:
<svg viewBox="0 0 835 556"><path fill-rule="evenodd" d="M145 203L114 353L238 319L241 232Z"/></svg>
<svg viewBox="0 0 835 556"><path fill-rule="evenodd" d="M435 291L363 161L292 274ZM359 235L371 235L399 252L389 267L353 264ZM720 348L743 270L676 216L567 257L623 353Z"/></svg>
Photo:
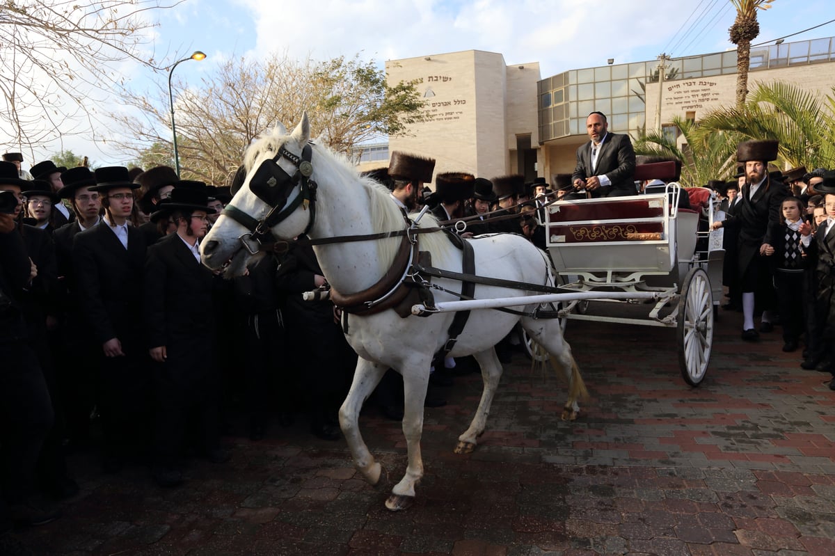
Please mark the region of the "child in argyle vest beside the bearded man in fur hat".
<svg viewBox="0 0 835 556"><path fill-rule="evenodd" d="M797 197L787 197L782 202L780 221L772 225L765 238L765 253L772 257L774 286L777 288L777 306L783 329L783 351L797 350L797 341L803 330L803 271L804 255L812 240L812 226L803 215L806 207Z"/></svg>

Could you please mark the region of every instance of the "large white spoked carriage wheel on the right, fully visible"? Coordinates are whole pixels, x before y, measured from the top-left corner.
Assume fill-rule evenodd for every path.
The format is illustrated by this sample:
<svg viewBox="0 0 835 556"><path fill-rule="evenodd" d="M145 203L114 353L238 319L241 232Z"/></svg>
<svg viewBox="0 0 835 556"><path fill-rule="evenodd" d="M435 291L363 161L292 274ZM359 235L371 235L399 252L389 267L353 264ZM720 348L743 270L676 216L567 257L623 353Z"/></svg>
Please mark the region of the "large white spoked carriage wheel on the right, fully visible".
<svg viewBox="0 0 835 556"><path fill-rule="evenodd" d="M699 386L711 360L713 294L707 273L699 267L687 273L678 311L678 352L681 376Z"/></svg>

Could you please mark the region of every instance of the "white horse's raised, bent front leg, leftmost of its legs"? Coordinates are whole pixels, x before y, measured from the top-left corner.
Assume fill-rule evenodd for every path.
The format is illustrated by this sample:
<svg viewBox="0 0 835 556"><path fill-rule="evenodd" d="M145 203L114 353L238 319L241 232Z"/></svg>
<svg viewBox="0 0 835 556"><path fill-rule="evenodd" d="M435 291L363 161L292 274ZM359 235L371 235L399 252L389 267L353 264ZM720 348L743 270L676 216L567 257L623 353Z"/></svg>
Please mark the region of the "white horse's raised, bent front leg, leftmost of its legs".
<svg viewBox="0 0 835 556"><path fill-rule="evenodd" d="M382 466L374 461L374 456L368 451L366 443L362 441L359 415L362 403L371 395L386 371L386 366L358 357L351 390L348 391L345 402L342 402L342 407L339 408L339 427L342 428L342 434L345 435L345 440L354 458L354 464L362 473L362 477L368 483L375 485L380 480Z"/></svg>

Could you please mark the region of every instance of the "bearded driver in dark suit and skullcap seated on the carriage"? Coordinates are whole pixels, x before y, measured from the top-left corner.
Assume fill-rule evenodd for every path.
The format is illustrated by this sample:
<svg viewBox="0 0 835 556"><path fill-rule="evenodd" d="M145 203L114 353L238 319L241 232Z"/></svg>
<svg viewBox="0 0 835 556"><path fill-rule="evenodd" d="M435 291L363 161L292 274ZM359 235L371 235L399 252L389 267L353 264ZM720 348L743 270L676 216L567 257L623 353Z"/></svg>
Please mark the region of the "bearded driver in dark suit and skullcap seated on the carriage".
<svg viewBox="0 0 835 556"><path fill-rule="evenodd" d="M574 189L592 197L635 195L635 150L629 135L609 133L609 122L602 112L585 119L591 139L577 149L577 165L571 181ZM585 198L582 193L571 194Z"/></svg>

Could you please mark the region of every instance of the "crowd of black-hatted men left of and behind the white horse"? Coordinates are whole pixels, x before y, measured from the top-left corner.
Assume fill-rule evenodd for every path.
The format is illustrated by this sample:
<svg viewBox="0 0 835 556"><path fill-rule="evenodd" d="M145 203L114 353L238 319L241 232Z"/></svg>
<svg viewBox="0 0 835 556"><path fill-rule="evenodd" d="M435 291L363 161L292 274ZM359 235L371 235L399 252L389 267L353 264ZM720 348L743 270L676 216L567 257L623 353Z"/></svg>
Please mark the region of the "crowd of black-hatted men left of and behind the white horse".
<svg viewBox="0 0 835 556"><path fill-rule="evenodd" d="M341 437L337 411L356 354L330 301L302 301L325 284L309 245L225 280L200 264L199 246L230 186L182 180L167 166L93 171L44 161L26 172L21 154L3 158L0 530L59 517L53 502L78 493L66 463L73 450L99 452L103 473L145 463L156 483L176 487L185 457L229 459L220 437L232 412L254 441L271 419L300 415L316 437ZM415 176L409 165L421 160ZM544 247L544 179L440 174L423 199L433 167L395 153L392 174L377 178L404 214L427 202L439 220L471 217L465 237L514 231ZM469 372L466 361L455 365L438 359L428 407L444 405L439 388ZM375 399L402 418L402 384L390 374Z"/></svg>

